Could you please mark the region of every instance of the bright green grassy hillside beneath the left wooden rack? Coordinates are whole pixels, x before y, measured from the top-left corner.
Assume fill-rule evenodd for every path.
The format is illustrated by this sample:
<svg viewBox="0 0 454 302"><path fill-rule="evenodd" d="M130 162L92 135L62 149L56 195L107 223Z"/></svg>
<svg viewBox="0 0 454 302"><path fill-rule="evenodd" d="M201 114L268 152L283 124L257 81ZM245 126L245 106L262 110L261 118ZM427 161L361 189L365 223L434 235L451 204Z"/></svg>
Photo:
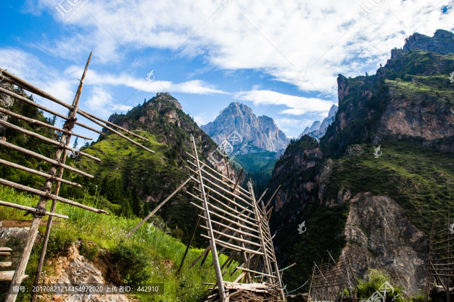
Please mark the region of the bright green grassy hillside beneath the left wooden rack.
<svg viewBox="0 0 454 302"><path fill-rule="evenodd" d="M31 207L37 203L36 197L18 194L13 189L3 186L0 186L0 200ZM96 202L97 200L95 200L95 204L88 201L85 203L97 206ZM180 266L186 246L158 228L155 232L148 234L147 225L143 225L133 236L125 240L125 234L140 221L138 218L128 219L115 215L96 214L62 203L58 204L56 212L68 215L70 219L63 219L61 224L52 228L46 259L52 260L55 255L64 255L73 243L80 240L84 243L81 254L87 259L104 261L106 258L114 260L123 258L122 262L126 262L126 267L118 262L118 268L120 276L123 280L126 280L126 283L134 281L164 283L163 295L158 295L156 298L152 295L138 295L137 298L140 298L141 301L203 301L203 296L209 291L207 286L202 285L201 282L215 281L214 270L208 267L210 261L206 261L202 268L200 268L199 263L193 268L189 268L192 260L202 252L201 249L195 248L189 250L181 274L176 276L176 270ZM21 210L0 207L0 219L24 219L23 214L24 212ZM40 227L39 231L44 232L44 227ZM12 240L9 241L7 246L12 248L14 252L12 256L4 257L2 261L13 261L14 267L17 264L23 243ZM25 281L25 284L33 283L40 248L39 242L33 248L25 272L30 275L30 278ZM210 258L211 255L208 256L208 259ZM225 255L221 255L221 264L226 259ZM167 265L164 265L164 263ZM232 281L235 279L237 275L230 277L234 267L235 264L225 274L225 280ZM0 270L8 269L0 268ZM46 275L52 275L54 273L53 265L49 265L45 261L43 271L46 272ZM129 279L127 278L128 275ZM0 299L5 298L8 285L8 283L0 283ZM20 302L28 300L29 296L26 295L20 295L18 298Z"/></svg>

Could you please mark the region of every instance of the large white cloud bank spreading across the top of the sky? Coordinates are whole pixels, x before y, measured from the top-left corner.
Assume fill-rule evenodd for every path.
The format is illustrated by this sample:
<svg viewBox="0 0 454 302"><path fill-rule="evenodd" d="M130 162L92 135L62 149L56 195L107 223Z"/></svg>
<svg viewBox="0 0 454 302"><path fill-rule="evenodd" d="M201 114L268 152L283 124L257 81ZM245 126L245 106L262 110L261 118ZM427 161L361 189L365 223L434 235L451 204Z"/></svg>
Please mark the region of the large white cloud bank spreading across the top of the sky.
<svg viewBox="0 0 454 302"><path fill-rule="evenodd" d="M452 9L441 14L446 0L391 0L372 21L358 10L362 0L234 0L228 7L215 0L136 0L127 5L110 0L90 1L85 8L93 17L81 11L68 22L55 10L54 0L39 3L62 25L83 32L55 41L56 47L48 46L61 56L94 48L105 63L137 64L123 46L137 57L150 48L172 53L184 43L174 57L201 56L222 70L258 69L302 91L322 93L335 92L337 73L354 76L385 63L389 50L401 47L411 32L431 35L438 28L452 29L454 15ZM137 60L145 65L168 57L139 56ZM297 79L302 70L307 70L307 82Z"/></svg>

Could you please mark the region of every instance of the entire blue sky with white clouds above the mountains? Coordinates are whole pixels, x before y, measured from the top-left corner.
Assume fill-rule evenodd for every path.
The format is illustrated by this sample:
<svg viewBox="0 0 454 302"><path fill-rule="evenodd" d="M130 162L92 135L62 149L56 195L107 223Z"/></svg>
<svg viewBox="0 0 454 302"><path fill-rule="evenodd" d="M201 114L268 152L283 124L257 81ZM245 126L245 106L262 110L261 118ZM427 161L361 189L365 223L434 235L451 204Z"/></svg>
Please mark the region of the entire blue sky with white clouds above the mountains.
<svg viewBox="0 0 454 302"><path fill-rule="evenodd" d="M412 33L453 31L453 3L2 2L0 66L71 103L93 50L81 108L102 118L169 92L198 124L242 102L294 137L337 104L338 73L373 74Z"/></svg>

